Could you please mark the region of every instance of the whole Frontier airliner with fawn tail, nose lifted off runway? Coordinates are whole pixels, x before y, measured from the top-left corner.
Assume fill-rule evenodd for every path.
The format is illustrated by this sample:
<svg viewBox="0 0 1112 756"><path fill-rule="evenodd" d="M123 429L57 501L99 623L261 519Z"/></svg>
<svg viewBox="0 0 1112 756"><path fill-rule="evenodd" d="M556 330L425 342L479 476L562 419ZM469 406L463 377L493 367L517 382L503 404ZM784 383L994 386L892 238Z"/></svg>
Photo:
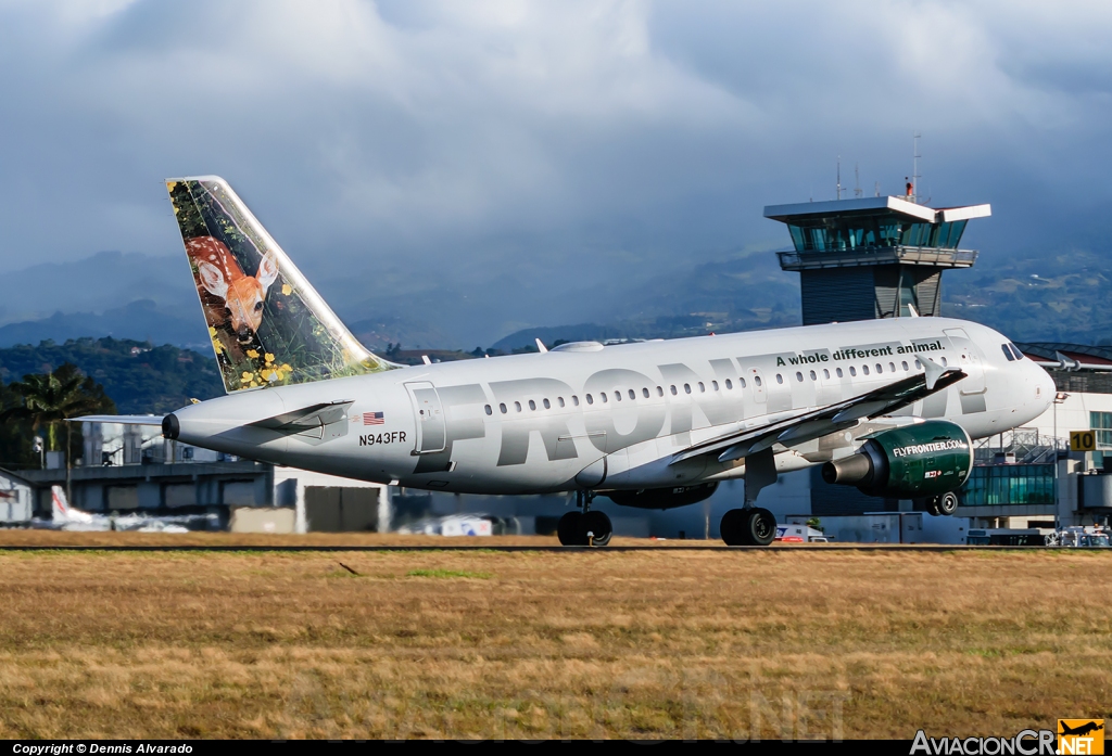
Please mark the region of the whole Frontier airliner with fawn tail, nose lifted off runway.
<svg viewBox="0 0 1112 756"><path fill-rule="evenodd" d="M772 543L756 506L782 473L953 514L972 441L1037 417L1050 375L1005 336L945 317L669 341L576 342L404 366L370 353L219 177L167 181L227 394L163 435L247 458L409 488L576 492L565 545L605 545L596 496L669 508L744 478L729 545Z"/></svg>

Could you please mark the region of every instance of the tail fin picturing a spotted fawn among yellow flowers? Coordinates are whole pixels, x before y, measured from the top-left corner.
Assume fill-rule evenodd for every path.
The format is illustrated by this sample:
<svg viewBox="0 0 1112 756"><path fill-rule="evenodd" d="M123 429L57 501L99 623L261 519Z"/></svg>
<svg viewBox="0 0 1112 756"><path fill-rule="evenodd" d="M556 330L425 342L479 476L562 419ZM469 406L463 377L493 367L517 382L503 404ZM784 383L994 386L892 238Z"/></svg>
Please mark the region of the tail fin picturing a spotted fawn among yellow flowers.
<svg viewBox="0 0 1112 756"><path fill-rule="evenodd" d="M166 187L229 393L398 366L351 335L227 181Z"/></svg>

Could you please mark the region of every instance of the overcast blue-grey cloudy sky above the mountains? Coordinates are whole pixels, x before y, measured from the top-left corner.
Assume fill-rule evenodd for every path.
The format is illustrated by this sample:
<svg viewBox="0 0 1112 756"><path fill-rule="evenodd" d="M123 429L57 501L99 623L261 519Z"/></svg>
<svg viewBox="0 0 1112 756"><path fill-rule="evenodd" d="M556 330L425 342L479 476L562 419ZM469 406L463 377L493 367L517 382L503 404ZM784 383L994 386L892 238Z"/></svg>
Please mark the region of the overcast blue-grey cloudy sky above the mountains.
<svg viewBox="0 0 1112 756"><path fill-rule="evenodd" d="M0 271L180 254L161 181L217 173L310 276L572 285L786 245L765 204L838 154L896 193L915 130L985 254L1094 233L1109 39L1106 0L0 0Z"/></svg>

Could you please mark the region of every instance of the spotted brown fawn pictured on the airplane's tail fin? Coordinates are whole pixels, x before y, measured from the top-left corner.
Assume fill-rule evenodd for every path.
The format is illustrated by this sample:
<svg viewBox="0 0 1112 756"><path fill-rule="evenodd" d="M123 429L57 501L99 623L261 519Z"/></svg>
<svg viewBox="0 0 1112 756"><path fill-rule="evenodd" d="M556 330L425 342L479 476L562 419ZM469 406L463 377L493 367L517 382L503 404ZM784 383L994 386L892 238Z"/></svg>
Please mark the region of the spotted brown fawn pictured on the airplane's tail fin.
<svg viewBox="0 0 1112 756"><path fill-rule="evenodd" d="M265 254L255 275L247 275L228 248L212 236L187 240L186 252L197 265L197 289L209 325L218 331L230 325L240 344L250 343L262 323L267 290L278 278L274 255ZM202 290L220 302L207 300Z"/></svg>

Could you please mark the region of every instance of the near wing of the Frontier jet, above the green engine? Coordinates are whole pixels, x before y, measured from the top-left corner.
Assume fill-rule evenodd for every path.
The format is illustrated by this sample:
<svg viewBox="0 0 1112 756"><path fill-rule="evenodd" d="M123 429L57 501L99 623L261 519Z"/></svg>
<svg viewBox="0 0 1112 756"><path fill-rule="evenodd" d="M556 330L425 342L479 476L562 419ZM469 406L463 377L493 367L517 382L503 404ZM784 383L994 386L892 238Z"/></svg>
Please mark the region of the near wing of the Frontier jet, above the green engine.
<svg viewBox="0 0 1112 756"><path fill-rule="evenodd" d="M668 464L704 454L716 454L718 462L732 462L772 448L773 444L802 444L853 427L862 419L901 410L965 377L957 367L943 369L926 360L923 365L923 374L911 375L844 402L694 444L675 454Z"/></svg>

